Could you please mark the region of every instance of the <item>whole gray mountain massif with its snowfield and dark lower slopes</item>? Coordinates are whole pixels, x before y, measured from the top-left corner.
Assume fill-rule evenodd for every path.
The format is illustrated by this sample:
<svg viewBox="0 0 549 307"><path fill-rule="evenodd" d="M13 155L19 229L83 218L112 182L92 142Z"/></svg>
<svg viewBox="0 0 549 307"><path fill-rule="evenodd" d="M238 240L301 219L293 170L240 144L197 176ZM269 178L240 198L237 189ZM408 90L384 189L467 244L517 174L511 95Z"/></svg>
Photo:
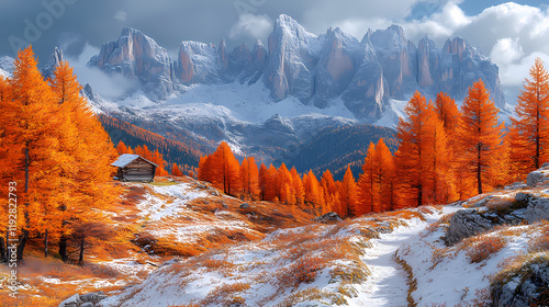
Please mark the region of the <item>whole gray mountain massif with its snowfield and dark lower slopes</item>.
<svg viewBox="0 0 549 307"><path fill-rule="evenodd" d="M42 68L44 77L63 59L55 49ZM414 43L397 25L368 31L358 39L332 27L315 35L282 14L267 44L228 49L224 39L219 45L183 41L176 59L152 37L126 27L88 66L139 84L117 99L94 92L93 83L85 86L82 94L105 115L103 124L115 117L201 154L226 140L239 156L253 155L267 164L287 162L299 171L320 169L300 158L303 150L309 157L320 154L311 148L334 148L327 160L362 159L352 152L365 152L380 137L394 137L415 91L427 99L446 92L459 102L482 79L502 114L509 112L498 68L478 48L461 37L449 38L441 48L428 36ZM0 58L0 75L9 76L11 69L12 59ZM345 138L337 136L339 128L363 143L336 146ZM114 144L123 138L120 130L108 130ZM179 162L198 166L199 154L183 156ZM343 177L336 167L333 171Z"/></svg>

